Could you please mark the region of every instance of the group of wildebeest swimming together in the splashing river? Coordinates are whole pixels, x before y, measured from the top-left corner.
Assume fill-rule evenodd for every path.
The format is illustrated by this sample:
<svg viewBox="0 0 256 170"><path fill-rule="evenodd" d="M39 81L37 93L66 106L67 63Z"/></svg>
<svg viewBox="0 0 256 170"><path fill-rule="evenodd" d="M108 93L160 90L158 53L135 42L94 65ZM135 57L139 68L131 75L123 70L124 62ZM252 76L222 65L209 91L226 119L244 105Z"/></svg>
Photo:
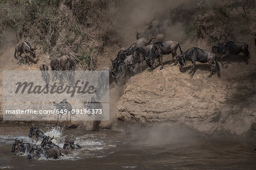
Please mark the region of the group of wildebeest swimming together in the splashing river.
<svg viewBox="0 0 256 170"><path fill-rule="evenodd" d="M14 140L11 152L15 154L27 154L28 159L46 157L47 159L57 159L60 156L72 154L73 151L82 148L79 144L75 144L74 140L65 139L63 147L52 142L52 139L45 135L39 127L30 127L28 137L32 139L32 143L24 142L23 139ZM40 143L36 144L36 143Z"/></svg>

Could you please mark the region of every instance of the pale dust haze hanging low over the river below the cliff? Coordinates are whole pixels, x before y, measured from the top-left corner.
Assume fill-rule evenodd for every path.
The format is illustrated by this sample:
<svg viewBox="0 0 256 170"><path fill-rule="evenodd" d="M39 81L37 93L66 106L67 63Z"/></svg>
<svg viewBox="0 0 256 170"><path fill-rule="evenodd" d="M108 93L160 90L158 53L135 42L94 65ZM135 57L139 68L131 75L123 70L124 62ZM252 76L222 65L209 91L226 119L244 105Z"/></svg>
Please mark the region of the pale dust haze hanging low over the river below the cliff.
<svg viewBox="0 0 256 170"><path fill-rule="evenodd" d="M133 126L129 128L134 145L137 146L172 146L187 147L199 144L199 135L181 125L154 124L147 127Z"/></svg>

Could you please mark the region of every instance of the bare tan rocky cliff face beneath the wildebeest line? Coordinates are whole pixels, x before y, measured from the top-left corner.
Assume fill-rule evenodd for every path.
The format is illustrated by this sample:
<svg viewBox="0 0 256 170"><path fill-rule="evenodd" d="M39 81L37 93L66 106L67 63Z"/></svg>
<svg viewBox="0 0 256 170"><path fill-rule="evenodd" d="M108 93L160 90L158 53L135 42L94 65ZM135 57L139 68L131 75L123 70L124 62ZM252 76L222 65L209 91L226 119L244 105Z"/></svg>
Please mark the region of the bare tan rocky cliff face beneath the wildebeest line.
<svg viewBox="0 0 256 170"><path fill-rule="evenodd" d="M118 119L125 122L181 123L200 132L229 131L241 135L256 128L254 59L230 56L221 78L208 78L209 65L196 63L190 78L187 67L164 65L147 69L127 83L118 102ZM221 65L221 64L220 64ZM254 72L254 73L253 73ZM255 133L255 132L254 132Z"/></svg>

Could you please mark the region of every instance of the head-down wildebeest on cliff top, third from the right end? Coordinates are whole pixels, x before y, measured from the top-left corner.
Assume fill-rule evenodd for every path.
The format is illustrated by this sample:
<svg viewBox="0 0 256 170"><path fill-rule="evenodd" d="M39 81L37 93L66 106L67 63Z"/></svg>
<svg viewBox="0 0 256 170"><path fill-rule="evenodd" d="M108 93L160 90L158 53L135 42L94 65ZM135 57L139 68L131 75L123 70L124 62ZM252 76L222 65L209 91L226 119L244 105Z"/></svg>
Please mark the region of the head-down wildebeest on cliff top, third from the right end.
<svg viewBox="0 0 256 170"><path fill-rule="evenodd" d="M150 67L151 70L155 69L155 66L154 66L155 59L158 58L158 61L161 63L160 70L162 70L163 69L163 55L169 55L170 53L172 53L172 60L170 62L170 64L171 64L177 55L176 50L177 50L178 45L179 45L179 43L174 42L174 41L155 43L153 45L153 47L151 48L150 54L148 55L148 57L146 57L146 63L148 65L148 67ZM176 58L174 65L176 65L176 64L177 64L177 58Z"/></svg>

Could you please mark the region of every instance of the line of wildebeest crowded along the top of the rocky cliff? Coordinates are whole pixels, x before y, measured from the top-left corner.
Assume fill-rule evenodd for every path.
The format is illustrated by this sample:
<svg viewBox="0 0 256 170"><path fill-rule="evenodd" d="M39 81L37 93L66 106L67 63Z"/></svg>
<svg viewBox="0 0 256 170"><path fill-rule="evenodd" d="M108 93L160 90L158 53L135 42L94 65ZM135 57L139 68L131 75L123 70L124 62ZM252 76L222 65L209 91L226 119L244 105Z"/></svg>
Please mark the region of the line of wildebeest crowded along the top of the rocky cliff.
<svg viewBox="0 0 256 170"><path fill-rule="evenodd" d="M118 85L123 85L126 82L127 77L129 78L129 76L135 74L135 68L138 68L137 70L142 72L144 60L146 60L151 71L157 67L156 60L158 60L160 70L162 70L163 55L172 54L169 65L174 61L175 66L179 61L180 66L183 67L185 61L191 61L191 71L189 72L191 77L195 74L196 61L209 64L210 74L208 77L212 77L214 73L217 73L218 77L220 77L220 67L217 58L220 58L222 67L227 68L228 59L226 59L226 62L224 63L222 62L223 57L243 53L243 55L245 55L245 62L248 64L250 53L248 49L249 45L246 43L231 41L220 44L214 43L211 52L197 47L189 48L186 52L183 52L178 42L163 42L164 32L160 30L164 24L166 24L166 21L152 21L150 26L148 26L144 32L137 32L136 43L130 45L130 47L121 48L117 57L114 60L111 60L113 68L111 74ZM151 39L147 42L146 40L148 37ZM152 40L156 41L154 42ZM179 55L177 55L177 48L180 50Z"/></svg>

